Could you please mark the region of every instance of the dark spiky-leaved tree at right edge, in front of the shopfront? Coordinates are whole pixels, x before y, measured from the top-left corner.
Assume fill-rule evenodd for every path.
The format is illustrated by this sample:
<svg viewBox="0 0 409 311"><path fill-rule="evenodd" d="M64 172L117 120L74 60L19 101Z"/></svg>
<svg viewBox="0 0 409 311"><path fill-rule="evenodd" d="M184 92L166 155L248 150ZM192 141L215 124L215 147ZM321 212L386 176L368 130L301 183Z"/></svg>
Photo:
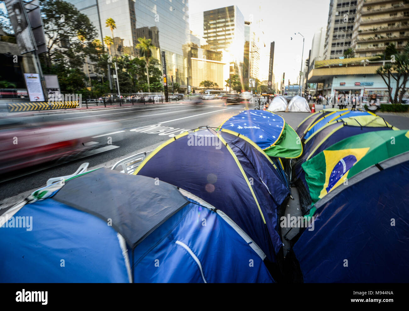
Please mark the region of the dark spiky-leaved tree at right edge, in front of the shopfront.
<svg viewBox="0 0 409 311"><path fill-rule="evenodd" d="M391 62L385 63L383 66L378 67L376 73L382 77L385 84L388 87L389 100L393 104L401 104L402 98L407 90L406 84L409 79L409 42L406 44L402 52L396 51L394 46L390 44L387 46L384 52L385 59L387 56L391 59ZM392 97L391 82L396 82L395 94Z"/></svg>

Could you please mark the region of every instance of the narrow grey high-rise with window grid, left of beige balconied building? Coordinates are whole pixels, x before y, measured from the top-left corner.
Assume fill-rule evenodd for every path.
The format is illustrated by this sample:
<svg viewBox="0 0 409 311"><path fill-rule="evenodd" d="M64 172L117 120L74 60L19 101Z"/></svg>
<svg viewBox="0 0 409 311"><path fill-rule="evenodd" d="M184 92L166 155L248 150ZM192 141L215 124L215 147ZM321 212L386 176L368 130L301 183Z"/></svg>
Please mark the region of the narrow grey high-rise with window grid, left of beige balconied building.
<svg viewBox="0 0 409 311"><path fill-rule="evenodd" d="M357 0L331 0L327 32L324 44L324 59L339 58L351 47Z"/></svg>

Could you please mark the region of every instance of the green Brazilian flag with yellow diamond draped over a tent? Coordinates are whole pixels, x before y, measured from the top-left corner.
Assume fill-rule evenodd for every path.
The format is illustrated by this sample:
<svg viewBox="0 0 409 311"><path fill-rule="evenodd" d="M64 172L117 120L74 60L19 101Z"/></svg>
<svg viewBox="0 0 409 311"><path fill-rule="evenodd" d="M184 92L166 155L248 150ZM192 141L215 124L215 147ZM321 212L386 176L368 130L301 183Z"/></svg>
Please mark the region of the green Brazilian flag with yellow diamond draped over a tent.
<svg viewBox="0 0 409 311"><path fill-rule="evenodd" d="M342 187L367 167L406 151L407 130L369 132L337 142L302 164L312 202Z"/></svg>

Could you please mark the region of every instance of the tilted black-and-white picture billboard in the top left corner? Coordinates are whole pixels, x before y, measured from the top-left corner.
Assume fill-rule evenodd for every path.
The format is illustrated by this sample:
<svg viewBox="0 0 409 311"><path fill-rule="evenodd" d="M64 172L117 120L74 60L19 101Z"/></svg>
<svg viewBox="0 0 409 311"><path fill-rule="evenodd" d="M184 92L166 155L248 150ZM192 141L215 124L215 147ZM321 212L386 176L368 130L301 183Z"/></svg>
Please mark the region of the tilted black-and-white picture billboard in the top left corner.
<svg viewBox="0 0 409 311"><path fill-rule="evenodd" d="M22 0L4 0L20 54L36 51L36 42Z"/></svg>

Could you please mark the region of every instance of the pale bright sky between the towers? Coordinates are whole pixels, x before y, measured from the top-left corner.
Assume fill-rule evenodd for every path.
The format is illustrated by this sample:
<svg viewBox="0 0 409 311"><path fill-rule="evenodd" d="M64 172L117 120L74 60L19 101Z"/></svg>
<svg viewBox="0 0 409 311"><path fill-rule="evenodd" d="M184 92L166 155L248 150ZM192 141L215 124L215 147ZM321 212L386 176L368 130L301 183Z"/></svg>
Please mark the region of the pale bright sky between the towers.
<svg viewBox="0 0 409 311"><path fill-rule="evenodd" d="M312 37L321 27L326 29L330 0L189 0L189 15L230 5L237 5L245 20L262 19L260 51L261 78L268 74L270 42L274 41L274 82L280 82L285 72L285 84L297 83L301 67L303 38L305 37L303 62L308 58ZM292 40L291 40L292 37Z"/></svg>

